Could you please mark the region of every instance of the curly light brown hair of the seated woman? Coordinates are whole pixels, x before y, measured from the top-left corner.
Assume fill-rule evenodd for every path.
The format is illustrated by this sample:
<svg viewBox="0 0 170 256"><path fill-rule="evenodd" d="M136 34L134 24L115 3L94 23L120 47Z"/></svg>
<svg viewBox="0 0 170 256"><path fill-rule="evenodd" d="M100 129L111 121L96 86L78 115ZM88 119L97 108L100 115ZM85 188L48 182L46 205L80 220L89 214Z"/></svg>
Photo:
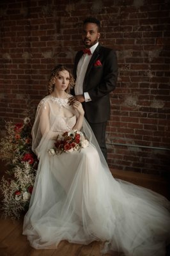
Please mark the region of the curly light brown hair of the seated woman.
<svg viewBox="0 0 170 256"><path fill-rule="evenodd" d="M57 65L56 67L54 67L52 69L51 74L50 74L50 79L49 79L49 84L48 84L48 93L49 94L54 92L54 79L59 75L59 72L64 71L64 70L68 71L69 76L70 76L70 83L68 84L68 88L66 88L66 93L70 93L70 89L73 88L73 86L75 84L72 73L64 65Z"/></svg>

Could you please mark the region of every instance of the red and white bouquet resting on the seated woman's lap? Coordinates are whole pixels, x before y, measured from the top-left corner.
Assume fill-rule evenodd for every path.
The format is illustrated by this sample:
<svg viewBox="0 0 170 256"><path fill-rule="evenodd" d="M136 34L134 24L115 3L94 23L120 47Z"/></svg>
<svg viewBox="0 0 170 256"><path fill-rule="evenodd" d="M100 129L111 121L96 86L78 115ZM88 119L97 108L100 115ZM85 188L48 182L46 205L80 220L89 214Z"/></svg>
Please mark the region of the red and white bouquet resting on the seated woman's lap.
<svg viewBox="0 0 170 256"><path fill-rule="evenodd" d="M62 136L57 136L54 147L48 150L50 156L59 155L63 152L73 152L86 148L89 145L89 141L84 138L84 134L81 131L73 130L70 132L64 132Z"/></svg>

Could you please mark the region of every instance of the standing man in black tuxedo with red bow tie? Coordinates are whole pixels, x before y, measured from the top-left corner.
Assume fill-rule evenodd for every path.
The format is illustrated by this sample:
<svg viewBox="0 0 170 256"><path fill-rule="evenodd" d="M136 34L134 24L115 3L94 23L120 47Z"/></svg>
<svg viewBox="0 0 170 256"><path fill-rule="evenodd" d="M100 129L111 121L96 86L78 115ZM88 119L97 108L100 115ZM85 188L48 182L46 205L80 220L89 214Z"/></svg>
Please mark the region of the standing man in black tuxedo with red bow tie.
<svg viewBox="0 0 170 256"><path fill-rule="evenodd" d="M77 52L73 67L74 100L82 102L86 120L93 130L107 160L105 131L110 115L109 93L116 87L118 64L116 52L98 43L100 21L88 17L83 22L82 42L85 48Z"/></svg>

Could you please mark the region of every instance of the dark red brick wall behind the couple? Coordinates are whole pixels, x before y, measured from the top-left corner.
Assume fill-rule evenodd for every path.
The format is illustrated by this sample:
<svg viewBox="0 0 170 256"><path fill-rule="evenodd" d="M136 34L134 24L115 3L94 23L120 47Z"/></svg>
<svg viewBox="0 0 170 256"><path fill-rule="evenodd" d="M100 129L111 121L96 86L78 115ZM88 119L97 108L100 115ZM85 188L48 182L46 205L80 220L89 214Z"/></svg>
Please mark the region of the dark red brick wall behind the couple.
<svg viewBox="0 0 170 256"><path fill-rule="evenodd" d="M88 4L86 4L88 3ZM169 171L169 6L166 0L1 0L0 116L19 122L26 97L46 95L50 69L73 67L86 15L102 21L101 44L118 54L107 126L109 166ZM1 132L2 133L2 132Z"/></svg>

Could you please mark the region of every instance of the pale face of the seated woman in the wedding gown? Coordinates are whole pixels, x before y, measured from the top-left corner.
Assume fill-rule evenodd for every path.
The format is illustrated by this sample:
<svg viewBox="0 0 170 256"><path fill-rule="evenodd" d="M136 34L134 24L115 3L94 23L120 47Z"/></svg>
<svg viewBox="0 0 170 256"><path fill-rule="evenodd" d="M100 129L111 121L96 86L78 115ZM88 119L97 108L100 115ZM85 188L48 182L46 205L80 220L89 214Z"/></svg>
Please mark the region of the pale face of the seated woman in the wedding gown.
<svg viewBox="0 0 170 256"><path fill-rule="evenodd" d="M57 90L58 92L65 91L68 88L68 85L70 83L69 72L66 70L60 71L58 76L55 77L54 83L55 83L54 90Z"/></svg>

